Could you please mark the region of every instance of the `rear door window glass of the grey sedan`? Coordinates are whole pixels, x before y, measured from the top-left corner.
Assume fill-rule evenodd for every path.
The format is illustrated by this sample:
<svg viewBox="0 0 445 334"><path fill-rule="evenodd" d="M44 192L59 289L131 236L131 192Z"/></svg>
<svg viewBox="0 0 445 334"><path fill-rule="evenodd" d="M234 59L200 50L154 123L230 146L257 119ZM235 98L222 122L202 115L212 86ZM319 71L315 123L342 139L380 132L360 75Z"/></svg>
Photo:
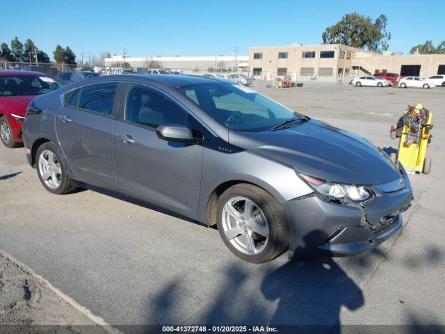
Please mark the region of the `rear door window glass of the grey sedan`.
<svg viewBox="0 0 445 334"><path fill-rule="evenodd" d="M95 113L111 115L116 95L117 83L96 84L82 88L79 108Z"/></svg>

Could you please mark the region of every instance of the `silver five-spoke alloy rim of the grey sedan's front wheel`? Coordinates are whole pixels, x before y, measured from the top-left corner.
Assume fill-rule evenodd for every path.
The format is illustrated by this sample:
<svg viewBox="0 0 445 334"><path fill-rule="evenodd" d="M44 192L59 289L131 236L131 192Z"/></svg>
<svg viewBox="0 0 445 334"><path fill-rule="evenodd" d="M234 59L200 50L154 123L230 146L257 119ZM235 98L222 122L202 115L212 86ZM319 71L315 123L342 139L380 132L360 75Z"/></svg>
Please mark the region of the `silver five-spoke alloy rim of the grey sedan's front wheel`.
<svg viewBox="0 0 445 334"><path fill-rule="evenodd" d="M225 202L222 213L225 236L241 253L257 255L267 246L269 227L259 206L243 196Z"/></svg>

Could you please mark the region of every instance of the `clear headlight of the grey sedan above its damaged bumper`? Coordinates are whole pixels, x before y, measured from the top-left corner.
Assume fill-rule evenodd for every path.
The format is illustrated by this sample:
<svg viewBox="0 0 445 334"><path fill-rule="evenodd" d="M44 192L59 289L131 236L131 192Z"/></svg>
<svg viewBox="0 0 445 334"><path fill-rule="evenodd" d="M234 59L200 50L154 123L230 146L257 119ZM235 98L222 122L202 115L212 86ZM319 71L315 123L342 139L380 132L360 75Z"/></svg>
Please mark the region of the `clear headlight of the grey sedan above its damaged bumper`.
<svg viewBox="0 0 445 334"><path fill-rule="evenodd" d="M364 202L372 197L372 193L366 186L354 184L339 184L317 179L316 177L299 174L303 180L312 186L318 194L325 198L342 200L344 202Z"/></svg>

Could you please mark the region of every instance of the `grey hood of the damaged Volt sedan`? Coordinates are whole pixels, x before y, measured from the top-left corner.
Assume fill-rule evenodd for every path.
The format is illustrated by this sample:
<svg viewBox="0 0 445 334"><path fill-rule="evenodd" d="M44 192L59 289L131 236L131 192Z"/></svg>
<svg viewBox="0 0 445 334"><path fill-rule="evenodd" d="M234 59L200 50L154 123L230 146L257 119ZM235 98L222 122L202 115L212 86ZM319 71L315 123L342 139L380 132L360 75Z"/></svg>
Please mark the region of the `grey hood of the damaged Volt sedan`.
<svg viewBox="0 0 445 334"><path fill-rule="evenodd" d="M365 185L401 177L369 141L317 120L277 131L230 132L229 142L323 180Z"/></svg>

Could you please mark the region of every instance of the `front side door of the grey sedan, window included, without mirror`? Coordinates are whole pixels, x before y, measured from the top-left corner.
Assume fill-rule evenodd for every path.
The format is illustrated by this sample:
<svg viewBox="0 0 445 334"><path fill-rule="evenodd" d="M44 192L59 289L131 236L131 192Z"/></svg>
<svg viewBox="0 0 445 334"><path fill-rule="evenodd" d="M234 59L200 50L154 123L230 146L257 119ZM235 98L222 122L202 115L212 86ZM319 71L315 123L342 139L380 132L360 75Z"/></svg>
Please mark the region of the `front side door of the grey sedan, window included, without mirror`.
<svg viewBox="0 0 445 334"><path fill-rule="evenodd" d="M120 108L115 129L119 191L196 218L202 146L162 140L156 127L185 125L202 136L201 125L170 97L139 84L129 84Z"/></svg>

